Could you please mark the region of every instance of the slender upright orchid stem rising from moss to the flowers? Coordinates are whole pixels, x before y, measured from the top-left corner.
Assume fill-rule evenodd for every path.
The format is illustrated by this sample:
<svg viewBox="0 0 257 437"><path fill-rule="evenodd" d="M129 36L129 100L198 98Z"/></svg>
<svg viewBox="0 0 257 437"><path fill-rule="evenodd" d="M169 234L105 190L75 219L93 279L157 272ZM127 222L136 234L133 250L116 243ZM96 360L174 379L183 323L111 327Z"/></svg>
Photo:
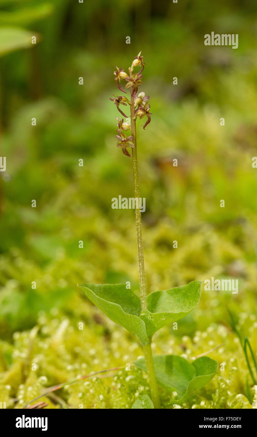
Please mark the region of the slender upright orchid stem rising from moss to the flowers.
<svg viewBox="0 0 257 437"><path fill-rule="evenodd" d="M138 175L137 149L136 149L135 102L132 93L133 93L133 87L130 87L131 134L133 137L133 144L135 146L132 149L132 161L133 161L134 196L135 196L135 225L136 225L136 238L137 238L137 249L138 249L138 263L139 263L139 288L140 288L141 309L142 311L146 311L147 310L146 273L144 267L141 212L139 209L140 193L139 193L139 175ZM152 340L150 339L149 343L143 346L143 351L146 359L146 369L149 377L149 386L150 386L153 406L154 408L159 409L160 397L159 397L158 385L157 385L157 380L154 370L151 341Z"/></svg>

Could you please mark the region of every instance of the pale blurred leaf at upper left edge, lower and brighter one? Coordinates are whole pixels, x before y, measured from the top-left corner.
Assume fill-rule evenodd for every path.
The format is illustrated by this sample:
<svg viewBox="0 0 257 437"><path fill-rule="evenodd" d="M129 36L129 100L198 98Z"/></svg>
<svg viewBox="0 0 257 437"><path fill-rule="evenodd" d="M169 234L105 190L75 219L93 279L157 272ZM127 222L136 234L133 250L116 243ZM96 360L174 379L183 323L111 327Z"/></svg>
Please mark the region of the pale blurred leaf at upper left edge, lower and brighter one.
<svg viewBox="0 0 257 437"><path fill-rule="evenodd" d="M32 36L37 36L37 34L20 28L0 28L0 55L33 47L31 44Z"/></svg>

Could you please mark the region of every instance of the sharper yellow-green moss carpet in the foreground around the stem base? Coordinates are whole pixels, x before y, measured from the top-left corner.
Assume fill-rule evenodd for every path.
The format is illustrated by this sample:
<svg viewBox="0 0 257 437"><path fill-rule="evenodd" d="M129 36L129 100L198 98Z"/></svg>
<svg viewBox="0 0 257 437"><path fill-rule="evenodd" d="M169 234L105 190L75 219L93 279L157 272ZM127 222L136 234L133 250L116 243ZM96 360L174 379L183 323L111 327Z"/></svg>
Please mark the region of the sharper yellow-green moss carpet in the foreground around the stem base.
<svg viewBox="0 0 257 437"><path fill-rule="evenodd" d="M56 326L61 325L65 314L59 312L56 316L46 317L44 323L38 319L37 325L42 329L47 325L48 332L44 336L37 336L33 347L32 360L38 364L37 371L29 370L28 376L22 382L22 368L28 356L29 331L15 333L13 344L8 346L8 351L13 354L13 364L6 372L2 372L0 379L0 397L7 402L7 408L24 408L27 402L31 402L42 394L49 385L64 381L73 381L79 375L89 374L103 368L112 368L122 365L124 360L133 361L139 354L139 344L132 343L125 330L119 329L108 321L111 341L106 343L103 334L99 331L99 325L92 324L83 331L76 326L81 319L81 314L87 310L92 315L94 307L86 301L79 303L75 316L70 316L70 326L60 338L58 350L52 341L56 334ZM201 310L198 323L204 316ZM211 326L212 327L212 326ZM239 347L234 342L235 336L229 334L229 330L223 325L215 325L210 331L198 331L196 338L174 337L169 340L168 329L158 338L158 344L154 346L155 353L181 353L181 341L186 346L188 359L193 360L193 355L208 350L209 342L215 344L225 342L225 348L220 347L212 354L220 363L226 361L225 371L219 374L205 388L195 394L188 401L180 404L174 395L160 389L161 405L163 408L193 408L193 409L256 409L257 386L251 388L252 402L243 395L242 387L248 375L245 359ZM204 334L204 335L203 335ZM205 335L208 334L208 335ZM251 337L254 340L254 336ZM197 341L197 343L195 343ZM4 346L1 343L2 347ZM76 358L74 358L74 345ZM94 349L94 350L93 350ZM110 354L111 350L111 354ZM7 353L7 349L5 349ZM9 353L8 352L8 353ZM97 360L97 362L96 362ZM98 364L97 364L98 363ZM43 378L42 378L43 376ZM105 375L104 375L105 376ZM149 395L147 380L143 377L139 368L131 367L120 371L111 372L108 378L95 379L91 377L76 384L67 385L63 390L57 391L58 402L53 403L49 396L42 396L40 400L48 403L46 408L59 408L63 401L65 408L131 408L135 399L141 395ZM101 382L100 382L101 381ZM19 399L14 402L14 398ZM171 402L170 400L173 399ZM38 401L34 401L33 404Z"/></svg>

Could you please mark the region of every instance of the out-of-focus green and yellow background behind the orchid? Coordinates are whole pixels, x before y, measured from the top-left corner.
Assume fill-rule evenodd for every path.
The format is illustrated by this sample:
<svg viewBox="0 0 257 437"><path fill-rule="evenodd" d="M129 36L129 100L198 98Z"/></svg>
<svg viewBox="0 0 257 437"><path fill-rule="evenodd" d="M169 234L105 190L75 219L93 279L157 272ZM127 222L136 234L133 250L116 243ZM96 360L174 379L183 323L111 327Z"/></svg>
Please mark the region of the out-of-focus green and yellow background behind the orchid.
<svg viewBox="0 0 257 437"><path fill-rule="evenodd" d="M238 49L205 46L212 31L238 34ZM255 323L255 1L0 0L2 370L15 361L13 334L53 309L72 326L84 320L98 329L76 284L131 281L138 291L134 215L111 208L111 198L132 197L133 180L109 97L121 94L115 64L128 71L140 50L139 91L153 112L146 131L138 122L148 289L237 278L238 295L203 291L177 335L226 326L227 305L246 315L246 329ZM256 350L256 326L250 332Z"/></svg>

